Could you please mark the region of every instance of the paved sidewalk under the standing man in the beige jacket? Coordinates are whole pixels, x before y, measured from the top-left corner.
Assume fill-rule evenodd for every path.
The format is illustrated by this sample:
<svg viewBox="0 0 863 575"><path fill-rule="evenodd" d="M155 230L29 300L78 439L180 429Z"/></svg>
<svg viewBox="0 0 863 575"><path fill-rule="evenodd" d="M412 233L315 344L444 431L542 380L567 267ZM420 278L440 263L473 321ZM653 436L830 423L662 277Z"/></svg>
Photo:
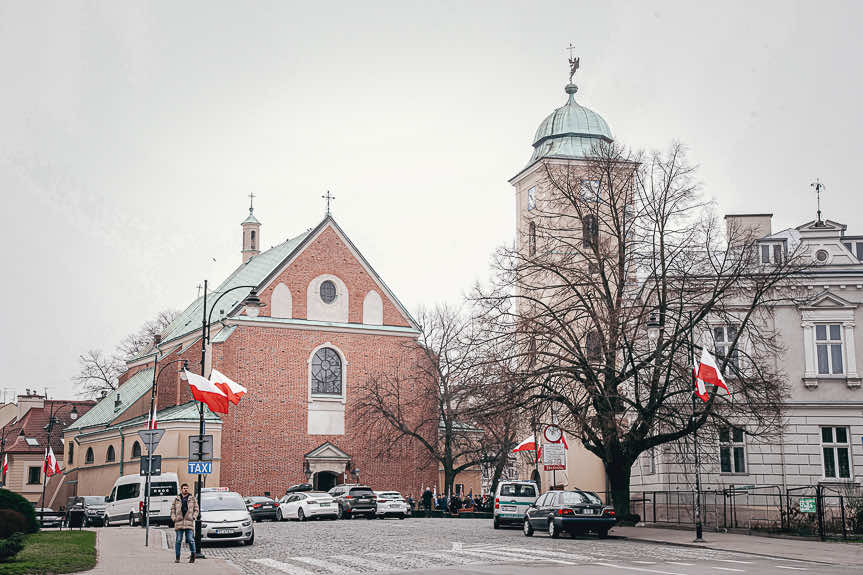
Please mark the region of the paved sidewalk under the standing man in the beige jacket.
<svg viewBox="0 0 863 575"><path fill-rule="evenodd" d="M203 573L237 575L240 571L222 559L202 559L189 563L189 549L183 546L179 564L174 563L174 549L167 548L163 529L150 530L150 546L144 547L144 530L140 527L104 527L96 530L98 563L88 575L151 575L159 573ZM174 532L168 533L173 545ZM206 548L204 554L206 554Z"/></svg>

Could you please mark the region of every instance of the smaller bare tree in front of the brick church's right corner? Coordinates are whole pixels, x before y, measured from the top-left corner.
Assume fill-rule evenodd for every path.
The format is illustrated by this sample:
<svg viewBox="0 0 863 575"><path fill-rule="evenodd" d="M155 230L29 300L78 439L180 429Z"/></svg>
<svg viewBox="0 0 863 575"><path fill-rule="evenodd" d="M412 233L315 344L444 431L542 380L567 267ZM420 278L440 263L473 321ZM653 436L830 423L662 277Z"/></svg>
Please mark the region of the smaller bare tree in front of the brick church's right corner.
<svg viewBox="0 0 863 575"><path fill-rule="evenodd" d="M508 435L501 432L504 444L494 448L499 428L484 427L492 422L480 416L476 390L487 370L477 361L472 322L446 306L421 311L417 321L419 345L405 344L392 371L360 384L357 409L381 453L418 442L443 469L444 493L451 493L459 473L499 460Z"/></svg>

